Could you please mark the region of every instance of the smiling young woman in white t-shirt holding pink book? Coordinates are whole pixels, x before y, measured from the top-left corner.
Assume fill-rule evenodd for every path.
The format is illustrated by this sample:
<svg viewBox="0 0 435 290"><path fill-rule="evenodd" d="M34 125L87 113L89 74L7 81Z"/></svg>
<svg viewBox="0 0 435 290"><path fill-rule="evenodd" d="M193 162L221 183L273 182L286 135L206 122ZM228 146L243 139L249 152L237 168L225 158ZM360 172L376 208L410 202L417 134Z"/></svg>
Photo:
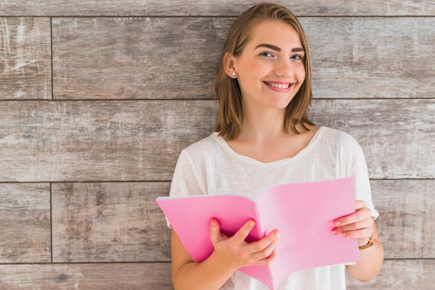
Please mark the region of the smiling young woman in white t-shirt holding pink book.
<svg viewBox="0 0 435 290"><path fill-rule="evenodd" d="M345 289L345 268L361 281L377 275L384 252L374 222L378 213L372 205L366 161L350 135L319 128L307 117L312 97L310 53L304 31L290 11L261 3L236 19L220 60L216 92L220 109L215 133L181 152L171 195L254 196L279 183L354 176L356 212L338 217L331 234L357 238L361 260L299 271L279 289ZM172 231L175 289L267 289L237 271L270 264L279 255L279 229L247 243L254 226L254 221L247 221L227 237L212 220L214 251L203 262L193 262Z"/></svg>

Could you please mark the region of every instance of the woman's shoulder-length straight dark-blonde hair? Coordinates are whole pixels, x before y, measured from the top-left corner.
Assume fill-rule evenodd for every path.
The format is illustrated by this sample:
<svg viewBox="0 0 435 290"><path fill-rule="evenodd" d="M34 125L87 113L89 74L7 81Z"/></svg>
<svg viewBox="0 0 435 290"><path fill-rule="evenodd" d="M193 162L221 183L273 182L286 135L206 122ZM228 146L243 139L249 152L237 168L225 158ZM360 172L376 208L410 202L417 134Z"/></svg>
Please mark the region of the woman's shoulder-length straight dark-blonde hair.
<svg viewBox="0 0 435 290"><path fill-rule="evenodd" d="M250 40L254 27L269 20L286 22L295 28L305 50L304 66L305 80L297 94L286 108L284 115L284 130L287 133L297 131L297 123L301 123L306 130L305 124L313 125L308 118L308 109L311 105L313 94L311 92L311 56L309 53L308 41L301 24L287 8L274 3L260 3L252 6L240 15L231 26L224 44L219 67L215 90L219 102L219 115L215 131L222 137L236 139L240 134L243 119L243 102L240 87L236 78L230 78L224 69L224 56L231 53L233 56L240 56L245 45Z"/></svg>

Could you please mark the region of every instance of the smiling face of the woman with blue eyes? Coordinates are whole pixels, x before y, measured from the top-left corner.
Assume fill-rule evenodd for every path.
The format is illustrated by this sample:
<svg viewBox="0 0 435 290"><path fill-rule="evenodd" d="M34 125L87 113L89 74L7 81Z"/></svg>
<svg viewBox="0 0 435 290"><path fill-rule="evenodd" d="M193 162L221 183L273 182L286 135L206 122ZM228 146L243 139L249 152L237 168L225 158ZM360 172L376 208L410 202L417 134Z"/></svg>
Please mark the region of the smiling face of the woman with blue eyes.
<svg viewBox="0 0 435 290"><path fill-rule="evenodd" d="M304 49L285 22L257 24L243 53L233 58L245 109L285 109L305 79Z"/></svg>

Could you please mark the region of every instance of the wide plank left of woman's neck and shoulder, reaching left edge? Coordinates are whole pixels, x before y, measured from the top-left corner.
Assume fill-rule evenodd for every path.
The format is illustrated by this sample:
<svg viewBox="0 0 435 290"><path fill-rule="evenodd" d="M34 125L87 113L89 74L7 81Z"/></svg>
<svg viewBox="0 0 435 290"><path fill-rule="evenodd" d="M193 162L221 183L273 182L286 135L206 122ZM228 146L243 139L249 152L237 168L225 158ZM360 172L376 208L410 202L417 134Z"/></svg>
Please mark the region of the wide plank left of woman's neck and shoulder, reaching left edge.
<svg viewBox="0 0 435 290"><path fill-rule="evenodd" d="M5 102L0 180L170 180L214 114L211 101Z"/></svg>

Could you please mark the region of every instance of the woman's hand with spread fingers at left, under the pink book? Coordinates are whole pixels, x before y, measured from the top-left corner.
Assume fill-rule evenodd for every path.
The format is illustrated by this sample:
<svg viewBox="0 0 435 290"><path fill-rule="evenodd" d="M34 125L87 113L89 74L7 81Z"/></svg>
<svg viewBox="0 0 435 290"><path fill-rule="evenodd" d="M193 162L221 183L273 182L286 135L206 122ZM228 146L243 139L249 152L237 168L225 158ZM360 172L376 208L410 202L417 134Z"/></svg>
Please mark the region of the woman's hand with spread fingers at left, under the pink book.
<svg viewBox="0 0 435 290"><path fill-rule="evenodd" d="M210 239L215 250L211 255L215 265L229 267L236 271L243 266L268 265L276 257L278 230L273 230L263 239L248 243L245 241L254 228L255 221L247 221L232 237L220 232L216 219L211 220Z"/></svg>

